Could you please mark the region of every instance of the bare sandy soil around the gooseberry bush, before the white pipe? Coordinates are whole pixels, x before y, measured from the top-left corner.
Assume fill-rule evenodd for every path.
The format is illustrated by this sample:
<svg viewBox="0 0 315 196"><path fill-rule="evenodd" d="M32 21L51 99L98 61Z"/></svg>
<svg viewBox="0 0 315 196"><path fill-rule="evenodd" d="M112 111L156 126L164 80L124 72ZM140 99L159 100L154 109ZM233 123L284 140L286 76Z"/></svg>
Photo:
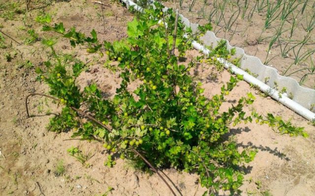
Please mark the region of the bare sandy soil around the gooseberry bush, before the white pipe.
<svg viewBox="0 0 315 196"><path fill-rule="evenodd" d="M0 0L0 3L2 3ZM65 28L76 26L84 33L92 29L99 39L113 41L126 36L126 22L132 15L119 4L110 4L104 0L105 32L99 5L90 1L55 2L44 8L53 15L54 22L63 22ZM40 25L32 19L40 10L29 14L29 25L41 36L56 36L40 32ZM23 26L23 15L16 15L16 20L4 21L1 31L10 34L18 41L26 36ZM57 36L56 36L57 37ZM9 43L10 41L7 41ZM72 49L67 40L61 39L56 45L57 51L63 51L90 62L89 70L80 76L80 84L95 82L109 95L115 93L119 81L118 75L104 68L106 60L97 55L88 55L79 48ZM16 57L6 62L5 52L14 53ZM83 50L84 51L84 50ZM45 126L52 115L44 115L49 109L58 113L60 108L44 98L31 98L31 113L37 115L26 117L25 98L32 92L47 92L45 84L35 80L34 68L23 65L30 60L35 66L42 66L48 50L40 41L32 45L17 45L0 49L0 195L7 196L100 196L107 193L112 196L171 196L169 190L156 174L149 175L135 171L128 161L117 160L117 164L108 168L103 165L107 158L104 148L95 141L69 140L71 132L56 134L49 132ZM188 52L188 61L198 55L196 51ZM200 65L191 74L201 80L205 95L211 98L220 92L223 82L229 79L229 73L218 73L210 65ZM209 77L209 75L214 77ZM217 76L217 78L215 78ZM269 98L262 98L259 92L240 82L228 96L222 109L246 93L256 94L256 100L247 111L256 109L261 114L268 112L290 119L297 126L305 127L309 138L280 135L267 126L255 123L231 127L231 134L238 140L240 149L251 147L257 149L255 160L248 164L245 183L241 195L262 195L271 193L274 196L312 196L315 194L315 128L306 120ZM40 113L40 111L42 111ZM93 155L84 166L68 155L66 149L79 147L85 154ZM62 163L64 174L56 176L58 165ZM181 173L174 169L164 172L181 190L183 196L201 196L205 189L198 185L196 174ZM108 191L112 187L113 190Z"/></svg>

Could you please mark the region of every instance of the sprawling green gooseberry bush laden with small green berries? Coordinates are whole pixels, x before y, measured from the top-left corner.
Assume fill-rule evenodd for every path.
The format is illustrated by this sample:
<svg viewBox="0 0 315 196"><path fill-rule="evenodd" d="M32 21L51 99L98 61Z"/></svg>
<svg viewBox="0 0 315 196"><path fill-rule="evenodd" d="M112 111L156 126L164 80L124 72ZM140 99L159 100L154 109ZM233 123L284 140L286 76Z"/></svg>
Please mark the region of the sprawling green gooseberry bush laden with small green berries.
<svg viewBox="0 0 315 196"><path fill-rule="evenodd" d="M246 115L243 107L252 104L251 93L242 97L226 111L220 111L224 97L236 86L242 76L231 76L221 87L221 93L206 98L200 82L189 74L201 57L188 64L181 61L191 41L210 25L200 27L197 33L179 20L172 9L162 12L163 6L156 3L155 9L145 9L127 24L128 37L113 43L76 32L66 31L63 24L50 25L49 16L39 17L43 31L50 31L69 38L73 47L87 46L87 52L104 53L111 61L119 62L122 82L113 98L103 98L96 84L86 86L84 91L76 84L76 78L87 69L81 61L71 59L54 50L55 41L44 39L51 48L52 57L45 68L36 68L38 79L50 87L49 94L63 105L59 116L50 120L48 129L61 132L73 130L73 137L96 139L110 154L105 165L113 166L114 157L128 159L136 168L148 170L148 165L135 153L140 152L152 165L159 168L174 167L187 172L197 172L200 183L209 188L208 194L219 190L238 191L243 182L243 165L253 160L256 151L245 149L239 152L229 125L240 122L263 122L256 113ZM174 44L173 44L174 43ZM230 51L213 51L213 56L227 57ZM210 59L213 61L213 59ZM135 91L128 85L139 82ZM82 121L85 111L94 120Z"/></svg>

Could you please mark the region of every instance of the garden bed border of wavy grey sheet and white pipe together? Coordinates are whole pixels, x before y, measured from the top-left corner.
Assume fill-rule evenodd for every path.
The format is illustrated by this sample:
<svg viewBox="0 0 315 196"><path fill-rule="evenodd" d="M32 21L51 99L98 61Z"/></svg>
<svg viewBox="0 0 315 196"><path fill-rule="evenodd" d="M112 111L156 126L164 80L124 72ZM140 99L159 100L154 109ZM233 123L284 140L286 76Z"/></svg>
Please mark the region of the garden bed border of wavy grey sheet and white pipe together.
<svg viewBox="0 0 315 196"><path fill-rule="evenodd" d="M134 6L135 10L140 12L143 11L142 7L131 0L121 1L126 3L127 7ZM165 9L168 8L165 7ZM198 24L190 23L189 20L183 15L180 15L180 17L182 19L182 22L187 27L191 27L193 32L197 31ZM218 41L220 41L221 38L218 38L215 33L207 31L205 35L200 38L200 40L205 46L216 47ZM192 45L195 49L203 52L205 55L208 55L210 53L210 50L208 50L204 45L197 43L196 41L194 41ZM243 75L245 81L258 86L260 91L268 94L271 98L281 102L283 105L303 116L304 118L310 121L315 120L315 113L310 110L312 104L315 104L315 90L302 87L295 79L280 75L276 68L263 65L259 58L245 54L245 51L242 48L231 46L228 40L226 40L226 45L227 49L236 49L235 56L241 58L241 66L237 67L222 58L218 58L218 61L220 61L225 68L231 69L233 73ZM257 74L258 76L253 77L252 75L244 71L245 69L250 70L252 73ZM262 82L265 80L265 78L268 78L267 84ZM281 94L278 90L276 90L275 84L277 84L278 89L282 89L285 87L286 93ZM287 94L291 94L293 98L288 98Z"/></svg>

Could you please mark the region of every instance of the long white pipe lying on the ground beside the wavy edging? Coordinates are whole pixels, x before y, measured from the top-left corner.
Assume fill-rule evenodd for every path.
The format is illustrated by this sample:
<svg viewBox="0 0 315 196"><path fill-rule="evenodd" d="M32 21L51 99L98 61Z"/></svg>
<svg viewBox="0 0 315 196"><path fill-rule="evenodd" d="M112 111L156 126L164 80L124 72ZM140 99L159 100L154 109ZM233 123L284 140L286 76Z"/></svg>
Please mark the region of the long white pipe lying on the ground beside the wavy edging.
<svg viewBox="0 0 315 196"><path fill-rule="evenodd" d="M126 5L128 6L134 6L135 10L138 10L139 12L143 11L143 8L140 7L139 5L137 5L136 3L130 1L130 0L121 0L124 3L126 3ZM165 7L166 8L166 7ZM167 8L166 8L167 9ZM205 48L203 45L201 45L200 43L193 41L192 42L192 46L196 49L201 51L202 53L204 53L205 55L209 55L210 50L208 50L207 48ZM303 116L304 118L306 118L309 121L315 121L315 113L313 113L312 111L310 111L309 109L303 107L302 105L300 105L299 103L293 101L292 99L286 97L285 94L281 94L280 92L278 92L277 90L271 88L270 86L268 86L267 84L261 82L260 80L258 80L257 78L253 77L252 75L250 75L249 73L247 73L246 71L238 68L237 66L231 64L230 62L222 59L222 58L218 58L217 59L221 64L223 64L224 68L226 69L230 69L233 73L235 74L239 74L239 75L243 75L243 78L246 82L253 84L255 86L258 86L260 91L268 94L271 98L281 102L283 105L285 105L286 107L290 108L291 110L293 110L294 112L296 112L297 114Z"/></svg>

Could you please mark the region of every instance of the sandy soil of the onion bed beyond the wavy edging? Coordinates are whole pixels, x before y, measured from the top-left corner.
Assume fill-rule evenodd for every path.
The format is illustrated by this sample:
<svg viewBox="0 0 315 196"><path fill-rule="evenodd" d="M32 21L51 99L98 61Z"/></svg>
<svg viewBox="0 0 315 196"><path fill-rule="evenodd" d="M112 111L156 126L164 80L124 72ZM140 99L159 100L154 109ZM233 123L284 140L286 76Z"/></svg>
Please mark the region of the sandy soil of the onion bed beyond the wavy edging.
<svg viewBox="0 0 315 196"><path fill-rule="evenodd" d="M191 12L189 12L189 5L194 0L184 0L182 8L180 7L179 1L166 1L163 2L168 7L173 8L179 8L180 13L183 14L186 18L189 19L192 23L198 23L198 24L206 24L209 23L209 17L210 13L215 12L214 10L214 1L207 1L207 0L196 0L194 6L191 9ZM240 1L241 5L244 5L244 0ZM276 34L277 28L279 27L280 20L278 17L277 20L274 20L271 23L271 26L269 29L262 31L264 25L265 25L265 18L267 10L266 8L262 9L261 12L257 13L257 11L253 11L252 19L249 20L249 15L252 13L252 9L255 6L256 1L249 1L249 8L244 14L244 19L242 19L243 14L243 8L244 6L240 6L240 14L238 15L238 7L236 6L236 2L234 1L226 1L226 6L224 10L224 19L225 23L228 24L230 18L232 18L231 22L235 20L235 23L231 26L231 29L229 31L225 30L225 23L224 20L221 19L218 24L216 24L216 21L219 21L221 12L218 11L217 14L214 14L211 19L211 24L213 25L213 32L216 33L217 37L225 38L230 41L230 44L232 46L241 47L245 50L245 53L248 55L256 56L258 57L262 63L267 62L266 65L273 66L279 70L280 74L284 74L284 71L293 64L294 62L294 53L293 50L288 52L288 55L285 58L281 57L281 47L280 43L282 45L282 48L285 47L285 44L288 43L288 40L295 40L288 44L287 48L293 47L294 44L296 44L296 41L303 40L306 36L307 32L303 29L306 27L306 16L309 17L311 14L314 13L314 8L307 7L304 14L300 14L297 12L297 10L301 10L303 7L303 4L300 4L298 8L293 12L294 16L297 15L297 26L293 31L292 37L290 37L291 27L292 27L292 16L290 15L288 17L288 20L285 21L284 27L282 30L282 35L280 37L281 42L278 42L278 40L273 44L272 49L269 52L269 56L266 59L268 46L271 41L271 37ZM262 1L259 1L262 2ZM274 2L274 1L271 1ZM310 1L310 4L313 2ZM223 0L217 1L218 4L223 5ZM266 4L266 2L264 3ZM279 11L282 10L283 5L279 9ZM256 8L257 9L257 8ZM219 9L218 9L219 10ZM235 13L236 12L236 13ZM234 14L235 13L235 14ZM278 13L278 12L277 12ZM234 14L234 15L233 15ZM236 17L238 15L238 17ZM308 18L308 21L310 19ZM311 33L311 38L306 44L301 52L306 52L309 49L314 48L314 39L315 34ZM258 41L259 39L262 39L261 41ZM298 47L295 48L295 53L297 53ZM302 53L303 53L302 52ZM302 54L301 53L301 54ZM311 58L314 61L315 54L311 56ZM293 73L297 70L311 67L310 59L307 59L306 61L300 62L298 65L292 65L289 70L284 75L289 75L290 73ZM290 75L290 77L293 77L298 82L300 82L303 75L309 73L307 70L301 70L297 73L294 73ZM315 75L308 75L307 80L303 83L303 85L315 88Z"/></svg>

